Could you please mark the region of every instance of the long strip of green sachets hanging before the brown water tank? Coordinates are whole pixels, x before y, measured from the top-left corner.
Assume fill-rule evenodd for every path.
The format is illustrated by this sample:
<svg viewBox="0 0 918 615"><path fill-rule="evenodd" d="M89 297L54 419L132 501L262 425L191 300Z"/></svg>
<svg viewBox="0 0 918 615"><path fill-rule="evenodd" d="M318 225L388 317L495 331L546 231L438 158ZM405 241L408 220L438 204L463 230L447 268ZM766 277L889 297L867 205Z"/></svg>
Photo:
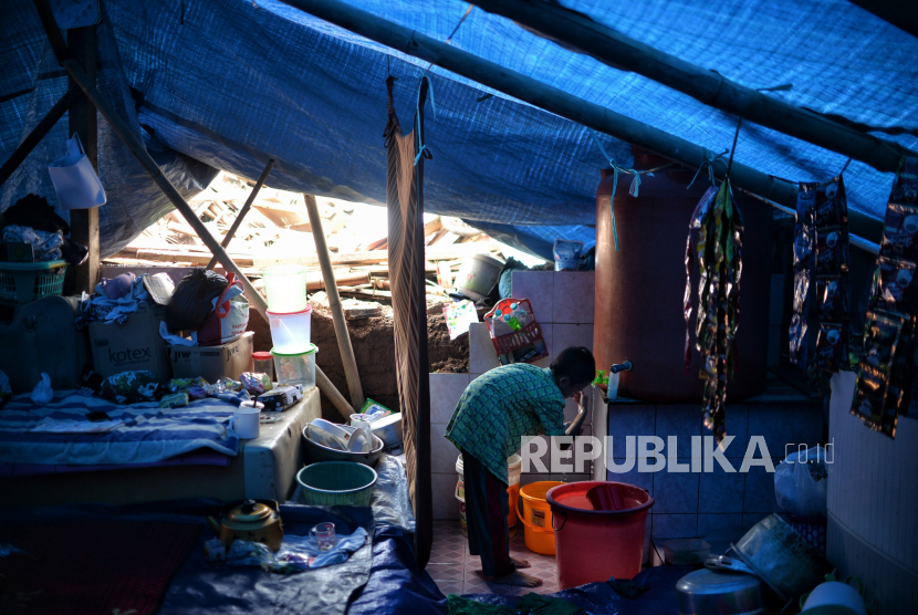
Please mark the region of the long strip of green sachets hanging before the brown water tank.
<svg viewBox="0 0 918 615"><path fill-rule="evenodd" d="M691 229L698 230L696 256L698 282L698 317L696 348L703 361L699 377L705 381L702 410L705 427L712 429L718 441L726 435L727 381L733 377L737 319L740 312L740 277L742 275L742 216L733 202L730 181L719 189L709 189L689 222L686 246L686 325L691 317ZM689 332L686 331L686 366L691 362Z"/></svg>

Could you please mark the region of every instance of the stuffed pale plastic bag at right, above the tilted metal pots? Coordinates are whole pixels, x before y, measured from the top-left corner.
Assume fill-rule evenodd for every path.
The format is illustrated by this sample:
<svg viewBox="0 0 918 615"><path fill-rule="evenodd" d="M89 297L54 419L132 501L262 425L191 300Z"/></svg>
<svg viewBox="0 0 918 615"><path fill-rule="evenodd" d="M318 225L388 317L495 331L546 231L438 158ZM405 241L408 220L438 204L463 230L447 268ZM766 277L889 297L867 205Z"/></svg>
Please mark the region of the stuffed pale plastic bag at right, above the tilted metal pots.
<svg viewBox="0 0 918 615"><path fill-rule="evenodd" d="M774 470L774 497L785 512L826 515L828 465L821 446L789 455Z"/></svg>

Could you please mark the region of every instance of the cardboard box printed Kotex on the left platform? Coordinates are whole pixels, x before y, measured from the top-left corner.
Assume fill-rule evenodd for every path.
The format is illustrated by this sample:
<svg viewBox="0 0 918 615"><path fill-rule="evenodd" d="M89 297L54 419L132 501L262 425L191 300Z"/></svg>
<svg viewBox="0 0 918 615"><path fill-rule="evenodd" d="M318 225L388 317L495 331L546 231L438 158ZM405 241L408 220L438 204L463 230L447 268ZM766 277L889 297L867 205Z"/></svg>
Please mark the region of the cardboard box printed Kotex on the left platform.
<svg viewBox="0 0 918 615"><path fill-rule="evenodd" d="M159 323L166 308L140 303L124 324L90 323L90 347L95 371L107 378L122 372L154 372L159 382L171 377L166 341L159 336Z"/></svg>

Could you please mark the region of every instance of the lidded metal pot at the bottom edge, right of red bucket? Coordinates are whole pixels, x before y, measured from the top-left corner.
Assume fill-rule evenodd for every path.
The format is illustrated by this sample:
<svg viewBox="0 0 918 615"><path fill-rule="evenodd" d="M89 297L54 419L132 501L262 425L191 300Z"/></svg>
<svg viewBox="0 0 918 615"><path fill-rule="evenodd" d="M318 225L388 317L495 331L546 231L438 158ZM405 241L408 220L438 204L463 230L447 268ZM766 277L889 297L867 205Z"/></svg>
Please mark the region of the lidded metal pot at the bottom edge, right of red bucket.
<svg viewBox="0 0 918 615"><path fill-rule="evenodd" d="M762 582L749 574L690 572L676 583L679 615L765 615Z"/></svg>

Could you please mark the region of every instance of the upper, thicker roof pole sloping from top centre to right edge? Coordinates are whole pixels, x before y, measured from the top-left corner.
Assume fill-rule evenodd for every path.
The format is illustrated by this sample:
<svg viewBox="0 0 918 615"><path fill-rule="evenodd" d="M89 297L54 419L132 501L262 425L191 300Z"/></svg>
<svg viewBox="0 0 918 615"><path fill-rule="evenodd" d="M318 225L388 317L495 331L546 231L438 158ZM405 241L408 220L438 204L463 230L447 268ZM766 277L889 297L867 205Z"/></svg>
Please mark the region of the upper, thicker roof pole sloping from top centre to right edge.
<svg viewBox="0 0 918 615"><path fill-rule="evenodd" d="M899 158L918 156L897 143L844 126L654 49L561 4L544 0L473 0L473 3L614 69L635 72L706 105L867 163L879 171L895 173Z"/></svg>

